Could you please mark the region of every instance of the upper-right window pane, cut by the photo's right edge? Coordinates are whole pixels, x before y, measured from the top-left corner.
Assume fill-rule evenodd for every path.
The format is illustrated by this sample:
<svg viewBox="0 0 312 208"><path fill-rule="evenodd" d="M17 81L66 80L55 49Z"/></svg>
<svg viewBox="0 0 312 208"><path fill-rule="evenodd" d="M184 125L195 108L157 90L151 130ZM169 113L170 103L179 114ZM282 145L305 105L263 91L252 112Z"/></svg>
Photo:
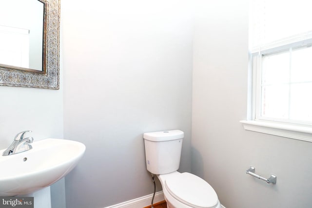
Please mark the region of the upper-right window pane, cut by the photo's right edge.
<svg viewBox="0 0 312 208"><path fill-rule="evenodd" d="M312 47L292 51L292 82L312 81Z"/></svg>

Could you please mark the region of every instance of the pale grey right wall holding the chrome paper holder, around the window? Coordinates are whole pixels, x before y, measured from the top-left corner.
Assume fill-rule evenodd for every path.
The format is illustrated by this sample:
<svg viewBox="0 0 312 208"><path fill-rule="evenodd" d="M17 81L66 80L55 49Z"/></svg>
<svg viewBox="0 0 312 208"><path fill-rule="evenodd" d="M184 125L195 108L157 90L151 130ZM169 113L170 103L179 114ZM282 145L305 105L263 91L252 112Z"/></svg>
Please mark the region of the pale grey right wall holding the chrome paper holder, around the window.
<svg viewBox="0 0 312 208"><path fill-rule="evenodd" d="M192 171L226 208L310 208L312 143L243 130L248 1L201 3L195 19ZM267 184L245 172L250 167Z"/></svg>

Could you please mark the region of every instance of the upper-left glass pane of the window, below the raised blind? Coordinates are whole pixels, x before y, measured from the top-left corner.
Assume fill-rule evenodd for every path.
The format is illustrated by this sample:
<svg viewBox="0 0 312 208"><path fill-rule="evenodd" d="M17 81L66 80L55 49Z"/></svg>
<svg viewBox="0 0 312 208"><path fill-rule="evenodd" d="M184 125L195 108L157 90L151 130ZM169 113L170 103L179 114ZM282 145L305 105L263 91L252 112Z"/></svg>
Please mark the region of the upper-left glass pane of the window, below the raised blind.
<svg viewBox="0 0 312 208"><path fill-rule="evenodd" d="M289 52L262 57L262 84L289 82Z"/></svg>

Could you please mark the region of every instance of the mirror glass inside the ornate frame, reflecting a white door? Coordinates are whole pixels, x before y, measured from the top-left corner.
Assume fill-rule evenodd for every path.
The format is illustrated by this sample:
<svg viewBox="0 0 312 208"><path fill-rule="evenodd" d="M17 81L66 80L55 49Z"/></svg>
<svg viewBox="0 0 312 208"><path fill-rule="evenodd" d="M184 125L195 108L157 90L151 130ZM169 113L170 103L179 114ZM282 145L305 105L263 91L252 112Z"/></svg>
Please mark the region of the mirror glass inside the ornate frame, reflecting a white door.
<svg viewBox="0 0 312 208"><path fill-rule="evenodd" d="M44 3L0 0L0 64L44 71Z"/></svg>

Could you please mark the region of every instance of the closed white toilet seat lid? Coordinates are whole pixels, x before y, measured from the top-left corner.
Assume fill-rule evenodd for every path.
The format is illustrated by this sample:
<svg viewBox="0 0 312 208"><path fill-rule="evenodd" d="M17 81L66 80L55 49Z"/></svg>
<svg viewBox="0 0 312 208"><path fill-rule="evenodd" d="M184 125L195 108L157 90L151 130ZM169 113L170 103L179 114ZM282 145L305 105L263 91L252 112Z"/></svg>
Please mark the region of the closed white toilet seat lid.
<svg viewBox="0 0 312 208"><path fill-rule="evenodd" d="M165 186L176 200L192 208L215 208L219 201L205 180L188 172L167 178Z"/></svg>

